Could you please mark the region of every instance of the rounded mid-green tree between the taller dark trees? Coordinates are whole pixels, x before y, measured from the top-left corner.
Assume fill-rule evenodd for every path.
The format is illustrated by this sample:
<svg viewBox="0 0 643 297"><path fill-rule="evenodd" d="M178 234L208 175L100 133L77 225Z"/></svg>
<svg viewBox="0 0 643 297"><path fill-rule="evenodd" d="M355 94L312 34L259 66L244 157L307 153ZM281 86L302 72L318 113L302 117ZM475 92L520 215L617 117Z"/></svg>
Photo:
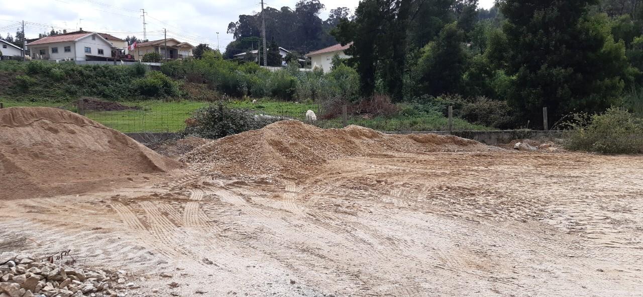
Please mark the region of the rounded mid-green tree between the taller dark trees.
<svg viewBox="0 0 643 297"><path fill-rule="evenodd" d="M462 48L464 31L457 22L444 26L435 41L421 50L417 77L422 94L439 96L462 91L467 54Z"/></svg>

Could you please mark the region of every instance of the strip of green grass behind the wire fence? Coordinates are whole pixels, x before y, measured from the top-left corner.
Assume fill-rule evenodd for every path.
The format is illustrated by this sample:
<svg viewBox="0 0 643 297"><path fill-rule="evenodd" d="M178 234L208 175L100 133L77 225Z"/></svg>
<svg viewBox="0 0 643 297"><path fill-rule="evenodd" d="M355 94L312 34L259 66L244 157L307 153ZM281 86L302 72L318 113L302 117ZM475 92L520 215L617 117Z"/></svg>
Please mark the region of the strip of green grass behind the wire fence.
<svg viewBox="0 0 643 297"><path fill-rule="evenodd" d="M2 100L5 107L14 106L44 106L62 107L77 111L73 102L30 102ZM212 102L164 102L161 100L149 101L120 101L120 104L141 107L131 111L87 111L85 116L96 122L102 123L121 132L177 132L185 128L185 119L190 117L196 109L205 107ZM236 100L228 102L231 108L249 109L255 114L271 116L285 116L298 120L305 120L305 113L309 109L318 112L316 104L295 104L294 102L278 102L273 100L258 100L252 104L249 100ZM418 116L395 116L390 118L376 117L372 119L352 117L349 125L360 125L378 131L444 131L448 129L448 120L442 114L421 114ZM341 118L332 120L318 120L316 125L323 128L341 128ZM453 126L456 130L492 130L489 127L473 125L464 120L455 118Z"/></svg>

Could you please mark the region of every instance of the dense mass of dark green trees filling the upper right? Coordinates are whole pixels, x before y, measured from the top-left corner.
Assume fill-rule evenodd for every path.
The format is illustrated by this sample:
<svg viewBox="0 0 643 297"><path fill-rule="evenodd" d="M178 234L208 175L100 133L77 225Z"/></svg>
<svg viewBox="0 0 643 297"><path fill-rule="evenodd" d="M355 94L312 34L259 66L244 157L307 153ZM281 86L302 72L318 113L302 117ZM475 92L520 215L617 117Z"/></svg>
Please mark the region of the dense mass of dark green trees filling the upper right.
<svg viewBox="0 0 643 297"><path fill-rule="evenodd" d="M501 118L494 108L463 113L495 117L493 125L503 127L539 123L543 107L556 121L571 112L642 105L641 96L626 92L643 82L638 1L501 0L491 10L477 4L361 1L354 18L341 18L332 30L341 44L352 42L345 64L358 72L359 96L428 102L460 95L502 107Z"/></svg>

